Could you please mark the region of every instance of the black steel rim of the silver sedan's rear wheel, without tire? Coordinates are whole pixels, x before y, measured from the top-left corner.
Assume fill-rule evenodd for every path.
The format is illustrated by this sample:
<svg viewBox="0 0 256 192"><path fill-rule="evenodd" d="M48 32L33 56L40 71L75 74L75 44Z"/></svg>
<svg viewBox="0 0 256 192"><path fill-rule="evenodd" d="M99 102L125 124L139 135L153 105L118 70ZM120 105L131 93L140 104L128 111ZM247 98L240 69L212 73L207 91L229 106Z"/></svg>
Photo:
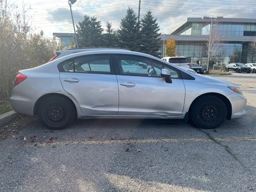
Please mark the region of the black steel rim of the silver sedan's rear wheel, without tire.
<svg viewBox="0 0 256 192"><path fill-rule="evenodd" d="M65 109L60 104L51 104L47 109L47 116L52 122L60 122L66 115Z"/></svg>

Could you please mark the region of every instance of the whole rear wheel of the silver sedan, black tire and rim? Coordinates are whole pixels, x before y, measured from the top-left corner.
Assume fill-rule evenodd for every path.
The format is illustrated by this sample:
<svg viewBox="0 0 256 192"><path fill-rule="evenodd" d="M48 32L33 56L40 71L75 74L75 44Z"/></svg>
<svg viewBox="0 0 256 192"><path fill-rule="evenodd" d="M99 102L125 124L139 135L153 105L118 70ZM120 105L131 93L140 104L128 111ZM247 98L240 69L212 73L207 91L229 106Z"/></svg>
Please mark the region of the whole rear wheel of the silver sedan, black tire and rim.
<svg viewBox="0 0 256 192"><path fill-rule="evenodd" d="M74 104L65 97L51 96L40 104L39 116L49 129L64 129L76 118Z"/></svg>

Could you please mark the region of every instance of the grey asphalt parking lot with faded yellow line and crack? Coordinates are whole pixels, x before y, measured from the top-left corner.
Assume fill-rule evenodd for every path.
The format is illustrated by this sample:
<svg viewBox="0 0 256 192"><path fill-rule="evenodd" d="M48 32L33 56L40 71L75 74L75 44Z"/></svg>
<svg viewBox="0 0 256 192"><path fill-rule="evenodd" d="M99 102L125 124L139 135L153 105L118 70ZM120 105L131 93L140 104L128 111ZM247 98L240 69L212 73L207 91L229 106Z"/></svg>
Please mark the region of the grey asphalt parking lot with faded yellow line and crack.
<svg viewBox="0 0 256 192"><path fill-rule="evenodd" d="M214 130L182 120L40 120L0 141L0 191L255 191L256 74L239 84L246 116Z"/></svg>

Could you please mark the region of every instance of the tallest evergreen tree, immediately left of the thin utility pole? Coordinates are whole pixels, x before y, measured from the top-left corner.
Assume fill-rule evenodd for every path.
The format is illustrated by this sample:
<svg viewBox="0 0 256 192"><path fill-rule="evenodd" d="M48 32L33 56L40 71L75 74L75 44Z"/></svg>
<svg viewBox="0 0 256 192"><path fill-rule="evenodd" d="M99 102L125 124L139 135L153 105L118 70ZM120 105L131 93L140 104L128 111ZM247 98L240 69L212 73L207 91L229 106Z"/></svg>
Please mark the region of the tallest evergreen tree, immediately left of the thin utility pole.
<svg viewBox="0 0 256 192"><path fill-rule="evenodd" d="M118 30L119 47L140 51L140 26L137 17L131 8L128 8L124 19L121 20Z"/></svg>

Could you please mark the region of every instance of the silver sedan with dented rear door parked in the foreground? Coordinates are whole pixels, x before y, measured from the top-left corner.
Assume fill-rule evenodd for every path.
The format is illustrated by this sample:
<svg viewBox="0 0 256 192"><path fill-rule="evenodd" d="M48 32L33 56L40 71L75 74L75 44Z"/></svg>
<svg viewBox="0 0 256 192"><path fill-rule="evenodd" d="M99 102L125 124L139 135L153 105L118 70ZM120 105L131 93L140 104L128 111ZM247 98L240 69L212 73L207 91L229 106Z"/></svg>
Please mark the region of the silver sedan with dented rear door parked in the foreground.
<svg viewBox="0 0 256 192"><path fill-rule="evenodd" d="M76 118L179 118L214 129L245 115L246 107L235 84L118 49L77 52L20 70L11 102L51 129Z"/></svg>

